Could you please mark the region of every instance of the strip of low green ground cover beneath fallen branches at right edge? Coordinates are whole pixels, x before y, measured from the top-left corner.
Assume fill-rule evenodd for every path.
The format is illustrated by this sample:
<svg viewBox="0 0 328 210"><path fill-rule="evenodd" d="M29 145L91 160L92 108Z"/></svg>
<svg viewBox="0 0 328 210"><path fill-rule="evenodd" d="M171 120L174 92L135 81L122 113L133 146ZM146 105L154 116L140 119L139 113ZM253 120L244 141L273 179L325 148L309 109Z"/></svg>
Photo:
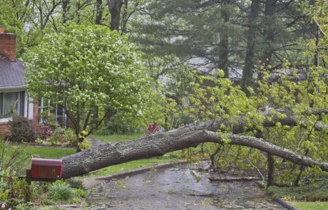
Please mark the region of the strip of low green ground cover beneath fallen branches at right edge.
<svg viewBox="0 0 328 210"><path fill-rule="evenodd" d="M273 197L289 201L328 201L328 181L304 184L299 187L272 186L267 192Z"/></svg>

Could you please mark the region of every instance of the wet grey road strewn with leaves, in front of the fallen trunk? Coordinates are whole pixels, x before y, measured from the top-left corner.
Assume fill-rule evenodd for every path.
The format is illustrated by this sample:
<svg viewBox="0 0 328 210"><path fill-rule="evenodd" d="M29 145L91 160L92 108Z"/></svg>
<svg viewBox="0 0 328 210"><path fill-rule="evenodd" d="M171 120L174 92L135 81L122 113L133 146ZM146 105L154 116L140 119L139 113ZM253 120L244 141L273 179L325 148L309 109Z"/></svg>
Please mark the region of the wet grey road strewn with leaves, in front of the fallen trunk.
<svg viewBox="0 0 328 210"><path fill-rule="evenodd" d="M152 170L98 184L88 209L284 209L255 182L209 182L199 166Z"/></svg>

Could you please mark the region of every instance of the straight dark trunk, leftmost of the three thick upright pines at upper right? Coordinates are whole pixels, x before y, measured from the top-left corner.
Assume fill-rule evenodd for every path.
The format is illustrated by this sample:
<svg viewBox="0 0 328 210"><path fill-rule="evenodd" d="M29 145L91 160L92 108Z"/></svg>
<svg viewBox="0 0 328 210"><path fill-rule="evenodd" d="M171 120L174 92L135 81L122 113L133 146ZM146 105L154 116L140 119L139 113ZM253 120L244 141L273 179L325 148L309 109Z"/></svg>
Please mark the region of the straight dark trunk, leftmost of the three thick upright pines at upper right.
<svg viewBox="0 0 328 210"><path fill-rule="evenodd" d="M225 72L225 77L229 77L228 70L228 58L229 58L229 31L227 30L227 24L229 23L230 11L229 6L230 0L223 0L221 5L221 18L225 22L223 24L222 31L220 33L220 44L219 44L219 68Z"/></svg>

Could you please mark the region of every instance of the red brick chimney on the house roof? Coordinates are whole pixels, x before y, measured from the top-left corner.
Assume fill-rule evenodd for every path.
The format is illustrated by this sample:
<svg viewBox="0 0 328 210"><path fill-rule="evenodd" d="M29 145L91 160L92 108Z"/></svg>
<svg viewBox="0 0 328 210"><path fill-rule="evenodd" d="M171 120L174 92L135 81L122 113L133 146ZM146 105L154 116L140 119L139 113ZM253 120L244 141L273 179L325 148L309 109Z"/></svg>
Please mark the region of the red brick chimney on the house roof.
<svg viewBox="0 0 328 210"><path fill-rule="evenodd" d="M16 61L16 34L4 30L0 26L0 56L4 56L10 62Z"/></svg>

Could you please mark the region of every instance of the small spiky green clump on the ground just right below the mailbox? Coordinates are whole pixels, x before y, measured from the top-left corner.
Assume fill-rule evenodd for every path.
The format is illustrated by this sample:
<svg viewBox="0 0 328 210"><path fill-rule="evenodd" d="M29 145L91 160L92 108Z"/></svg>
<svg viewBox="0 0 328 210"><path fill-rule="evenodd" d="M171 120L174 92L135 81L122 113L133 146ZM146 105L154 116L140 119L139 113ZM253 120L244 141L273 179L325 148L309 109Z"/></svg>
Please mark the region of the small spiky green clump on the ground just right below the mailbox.
<svg viewBox="0 0 328 210"><path fill-rule="evenodd" d="M57 181L49 187L49 196L55 201L67 201L73 196L73 189L63 181Z"/></svg>

